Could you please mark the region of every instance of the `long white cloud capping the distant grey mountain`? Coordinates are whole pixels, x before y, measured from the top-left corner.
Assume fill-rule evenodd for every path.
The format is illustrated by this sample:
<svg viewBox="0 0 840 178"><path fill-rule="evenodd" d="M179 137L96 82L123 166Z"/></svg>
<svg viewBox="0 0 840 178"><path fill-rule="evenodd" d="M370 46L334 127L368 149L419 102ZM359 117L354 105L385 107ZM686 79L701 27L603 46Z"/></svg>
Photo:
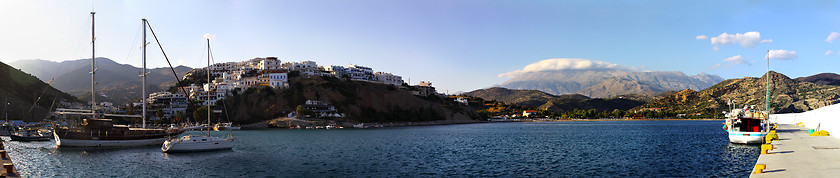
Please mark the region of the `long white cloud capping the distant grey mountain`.
<svg viewBox="0 0 840 178"><path fill-rule="evenodd" d="M574 58L555 58L546 59L533 64L525 66L522 70L515 70L508 73L499 74L498 78L508 77L513 78L520 74L528 72L552 71L552 70L580 70L580 69L614 69L614 68L628 68L603 61L593 61L589 59L574 59Z"/></svg>

